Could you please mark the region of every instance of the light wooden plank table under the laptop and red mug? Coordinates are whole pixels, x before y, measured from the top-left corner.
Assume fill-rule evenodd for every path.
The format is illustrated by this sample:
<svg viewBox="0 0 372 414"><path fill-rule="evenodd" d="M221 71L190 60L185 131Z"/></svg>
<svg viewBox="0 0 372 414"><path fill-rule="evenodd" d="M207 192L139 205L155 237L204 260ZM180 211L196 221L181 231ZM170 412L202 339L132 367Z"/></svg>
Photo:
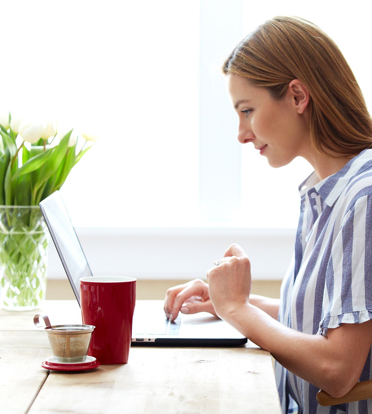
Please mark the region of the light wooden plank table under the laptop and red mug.
<svg viewBox="0 0 372 414"><path fill-rule="evenodd" d="M76 301L46 301L43 311L0 310L0 412L17 413L270 413L280 414L269 352L236 348L132 347L126 365L93 371L47 371L46 333L82 323Z"/></svg>

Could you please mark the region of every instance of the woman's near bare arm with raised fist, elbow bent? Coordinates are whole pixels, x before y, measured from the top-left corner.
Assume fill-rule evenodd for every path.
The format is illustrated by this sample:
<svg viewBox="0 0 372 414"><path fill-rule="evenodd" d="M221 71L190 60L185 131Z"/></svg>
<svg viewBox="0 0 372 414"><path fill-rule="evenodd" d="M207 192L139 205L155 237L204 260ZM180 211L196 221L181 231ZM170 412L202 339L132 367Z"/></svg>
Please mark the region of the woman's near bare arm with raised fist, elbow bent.
<svg viewBox="0 0 372 414"><path fill-rule="evenodd" d="M250 302L250 262L237 245L208 273L217 315L295 375L341 397L358 382L372 342L372 321L328 329L327 336L297 332Z"/></svg>

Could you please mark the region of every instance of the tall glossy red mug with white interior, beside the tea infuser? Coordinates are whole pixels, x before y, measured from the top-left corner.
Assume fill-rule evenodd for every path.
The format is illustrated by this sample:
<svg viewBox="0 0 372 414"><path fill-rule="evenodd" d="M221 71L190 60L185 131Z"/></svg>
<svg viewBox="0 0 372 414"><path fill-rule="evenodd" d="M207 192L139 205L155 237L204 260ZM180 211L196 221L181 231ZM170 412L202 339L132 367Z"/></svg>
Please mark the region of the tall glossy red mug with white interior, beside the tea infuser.
<svg viewBox="0 0 372 414"><path fill-rule="evenodd" d="M80 307L84 325L94 325L88 355L101 365L128 362L136 279L91 276L80 280Z"/></svg>

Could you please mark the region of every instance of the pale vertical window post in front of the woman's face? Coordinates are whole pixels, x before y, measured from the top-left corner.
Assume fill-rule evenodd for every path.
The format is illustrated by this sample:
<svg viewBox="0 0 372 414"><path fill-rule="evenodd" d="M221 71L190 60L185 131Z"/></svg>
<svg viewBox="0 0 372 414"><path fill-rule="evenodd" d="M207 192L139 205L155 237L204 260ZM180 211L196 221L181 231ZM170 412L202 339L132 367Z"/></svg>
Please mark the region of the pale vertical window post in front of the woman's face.
<svg viewBox="0 0 372 414"><path fill-rule="evenodd" d="M221 67L242 39L242 1L226 6L225 1L205 0L200 6L200 216L207 223L231 223L240 213L241 144ZM221 16L228 31L221 28Z"/></svg>

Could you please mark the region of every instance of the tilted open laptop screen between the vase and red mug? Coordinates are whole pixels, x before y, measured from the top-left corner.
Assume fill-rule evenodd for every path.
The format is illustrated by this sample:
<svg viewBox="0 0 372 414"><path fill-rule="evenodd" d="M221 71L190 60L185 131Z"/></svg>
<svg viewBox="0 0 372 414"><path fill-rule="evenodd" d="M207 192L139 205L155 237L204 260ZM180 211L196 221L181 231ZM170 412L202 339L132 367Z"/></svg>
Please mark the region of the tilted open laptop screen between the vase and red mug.
<svg viewBox="0 0 372 414"><path fill-rule="evenodd" d="M79 279L93 275L59 191L44 199L40 209L80 305Z"/></svg>

